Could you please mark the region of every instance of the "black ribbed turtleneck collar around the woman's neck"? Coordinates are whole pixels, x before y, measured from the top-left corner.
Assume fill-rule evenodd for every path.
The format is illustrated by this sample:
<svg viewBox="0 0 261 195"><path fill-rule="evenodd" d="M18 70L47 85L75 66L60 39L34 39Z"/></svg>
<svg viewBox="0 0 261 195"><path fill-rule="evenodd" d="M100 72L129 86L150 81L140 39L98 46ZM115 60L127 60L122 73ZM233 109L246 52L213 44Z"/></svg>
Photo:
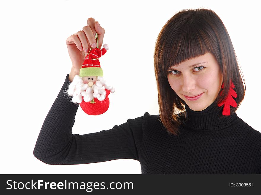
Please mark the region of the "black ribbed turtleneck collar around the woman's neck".
<svg viewBox="0 0 261 195"><path fill-rule="evenodd" d="M202 111L194 111L185 103L186 115L183 125L185 128L200 131L215 131L226 128L237 117L236 113L221 117L222 107L218 107L215 102Z"/></svg>

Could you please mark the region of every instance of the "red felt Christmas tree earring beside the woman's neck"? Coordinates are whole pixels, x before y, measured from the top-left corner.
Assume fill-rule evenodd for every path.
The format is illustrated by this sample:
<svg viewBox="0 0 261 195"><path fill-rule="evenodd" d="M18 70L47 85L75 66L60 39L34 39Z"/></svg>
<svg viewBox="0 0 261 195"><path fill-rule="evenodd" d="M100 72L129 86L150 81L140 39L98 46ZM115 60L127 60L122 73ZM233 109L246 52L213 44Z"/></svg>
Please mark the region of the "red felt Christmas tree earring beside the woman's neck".
<svg viewBox="0 0 261 195"><path fill-rule="evenodd" d="M224 105L222 114L226 115L226 116L230 115L230 106L233 106L233 107L237 106L236 101L233 99L233 97L234 98L237 97L237 94L236 94L236 92L233 89L233 88L235 88L235 86L234 86L232 80L230 80L230 83L231 83L231 85L230 85L229 92L228 92L228 95L227 95L226 99L218 104L219 107ZM222 84L221 88L222 89L224 88L224 83ZM222 92L223 92L223 90L220 92L220 95L222 94Z"/></svg>

